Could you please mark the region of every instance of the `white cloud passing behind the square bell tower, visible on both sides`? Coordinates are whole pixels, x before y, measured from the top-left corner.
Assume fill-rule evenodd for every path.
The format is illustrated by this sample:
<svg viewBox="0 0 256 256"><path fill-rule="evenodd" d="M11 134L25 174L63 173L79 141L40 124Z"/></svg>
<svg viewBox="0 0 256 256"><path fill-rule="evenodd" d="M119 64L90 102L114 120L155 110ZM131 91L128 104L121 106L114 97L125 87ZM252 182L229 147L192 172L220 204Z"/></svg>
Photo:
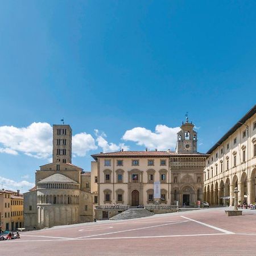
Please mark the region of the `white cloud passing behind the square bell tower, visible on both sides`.
<svg viewBox="0 0 256 256"><path fill-rule="evenodd" d="M0 126L0 153L18 155L19 153L34 158L47 159L52 156L52 126L49 123L31 123L27 127ZM97 146L90 134L79 133L72 137L74 156L85 156Z"/></svg>

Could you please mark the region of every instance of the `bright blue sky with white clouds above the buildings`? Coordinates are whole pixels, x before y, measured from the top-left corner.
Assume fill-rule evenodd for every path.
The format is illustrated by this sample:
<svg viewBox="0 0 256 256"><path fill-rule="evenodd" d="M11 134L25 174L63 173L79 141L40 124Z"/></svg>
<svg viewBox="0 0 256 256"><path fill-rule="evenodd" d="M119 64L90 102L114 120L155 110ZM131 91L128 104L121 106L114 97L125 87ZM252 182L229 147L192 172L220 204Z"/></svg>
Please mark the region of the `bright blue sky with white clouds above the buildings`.
<svg viewBox="0 0 256 256"><path fill-rule="evenodd" d="M0 2L0 185L34 183L63 117L85 170L102 150L164 149L167 135L174 149L186 112L206 152L255 104L255 12L254 1Z"/></svg>

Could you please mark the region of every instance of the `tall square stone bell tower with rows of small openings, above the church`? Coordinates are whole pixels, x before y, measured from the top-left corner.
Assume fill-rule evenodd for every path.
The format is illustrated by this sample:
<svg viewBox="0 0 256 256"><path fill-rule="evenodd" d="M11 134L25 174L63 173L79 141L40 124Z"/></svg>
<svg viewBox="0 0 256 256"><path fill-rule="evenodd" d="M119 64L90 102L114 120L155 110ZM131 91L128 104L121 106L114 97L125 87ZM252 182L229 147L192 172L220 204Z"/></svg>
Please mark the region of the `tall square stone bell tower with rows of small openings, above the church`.
<svg viewBox="0 0 256 256"><path fill-rule="evenodd" d="M53 125L52 162L72 163L72 129L69 125Z"/></svg>

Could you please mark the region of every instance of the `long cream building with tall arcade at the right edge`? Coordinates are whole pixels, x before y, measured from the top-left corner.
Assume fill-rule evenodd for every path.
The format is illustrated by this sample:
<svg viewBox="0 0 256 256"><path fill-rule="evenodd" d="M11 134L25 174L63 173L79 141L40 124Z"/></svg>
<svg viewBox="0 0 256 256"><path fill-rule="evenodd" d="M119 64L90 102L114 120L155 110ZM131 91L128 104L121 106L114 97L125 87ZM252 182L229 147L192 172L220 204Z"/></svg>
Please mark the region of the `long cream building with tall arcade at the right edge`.
<svg viewBox="0 0 256 256"><path fill-rule="evenodd" d="M210 205L256 201L256 105L207 152L204 198Z"/></svg>

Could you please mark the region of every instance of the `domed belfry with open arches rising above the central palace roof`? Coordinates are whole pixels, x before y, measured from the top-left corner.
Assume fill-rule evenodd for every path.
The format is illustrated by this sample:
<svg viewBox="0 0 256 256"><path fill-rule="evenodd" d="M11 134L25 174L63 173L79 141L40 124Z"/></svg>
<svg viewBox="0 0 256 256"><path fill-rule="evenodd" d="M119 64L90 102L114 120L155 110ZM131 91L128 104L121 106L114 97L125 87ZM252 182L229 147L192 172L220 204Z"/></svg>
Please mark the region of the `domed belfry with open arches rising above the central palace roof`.
<svg viewBox="0 0 256 256"><path fill-rule="evenodd" d="M188 122L188 117L186 122L180 126L180 131L177 133L177 146L176 153L181 154L195 154L197 153L197 132L193 130L195 125Z"/></svg>

